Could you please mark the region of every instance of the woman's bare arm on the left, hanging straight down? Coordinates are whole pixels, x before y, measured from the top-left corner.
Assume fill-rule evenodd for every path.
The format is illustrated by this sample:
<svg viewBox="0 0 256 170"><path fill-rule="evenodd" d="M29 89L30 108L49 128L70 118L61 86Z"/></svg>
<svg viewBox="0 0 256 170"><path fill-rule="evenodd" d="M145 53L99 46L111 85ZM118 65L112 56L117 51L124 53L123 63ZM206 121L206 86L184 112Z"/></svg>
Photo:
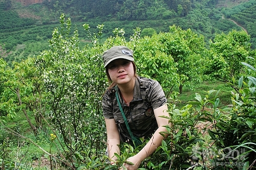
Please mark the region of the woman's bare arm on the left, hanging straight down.
<svg viewBox="0 0 256 170"><path fill-rule="evenodd" d="M111 159L111 163L115 162L117 157L114 155L114 153L120 154L120 137L119 137L119 132L118 128L115 122L115 119L108 119L105 118L105 123L106 123L106 135L107 135L107 140L108 140L108 153L109 153L109 158Z"/></svg>

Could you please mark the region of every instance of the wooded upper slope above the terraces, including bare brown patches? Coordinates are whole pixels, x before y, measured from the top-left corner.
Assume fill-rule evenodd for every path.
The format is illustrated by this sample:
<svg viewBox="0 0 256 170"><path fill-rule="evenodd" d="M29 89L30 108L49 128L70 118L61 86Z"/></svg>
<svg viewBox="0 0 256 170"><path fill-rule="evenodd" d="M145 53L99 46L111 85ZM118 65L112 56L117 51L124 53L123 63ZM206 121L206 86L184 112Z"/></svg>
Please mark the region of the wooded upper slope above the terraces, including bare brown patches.
<svg viewBox="0 0 256 170"><path fill-rule="evenodd" d="M152 16L152 12L163 13L163 19L170 17L184 17L192 11L197 3L203 8L233 8L249 0L206 0L206 1L167 1L159 3L154 1L56 1L56 0L2 0L5 4L11 4L8 9L18 12L20 17L44 18L55 20L56 15L68 13L76 20L82 21L90 18L101 17L103 20L150 20L159 19ZM0 0L1 2L1 0ZM193 2L193 3L191 3ZM18 5L19 4L19 5ZM20 6L21 5L21 6ZM99 12L100 11L100 12ZM150 11L150 12L148 12ZM178 13L178 16L175 15ZM151 16L150 16L151 15ZM35 17L37 16L37 17ZM39 17L40 16L40 17Z"/></svg>

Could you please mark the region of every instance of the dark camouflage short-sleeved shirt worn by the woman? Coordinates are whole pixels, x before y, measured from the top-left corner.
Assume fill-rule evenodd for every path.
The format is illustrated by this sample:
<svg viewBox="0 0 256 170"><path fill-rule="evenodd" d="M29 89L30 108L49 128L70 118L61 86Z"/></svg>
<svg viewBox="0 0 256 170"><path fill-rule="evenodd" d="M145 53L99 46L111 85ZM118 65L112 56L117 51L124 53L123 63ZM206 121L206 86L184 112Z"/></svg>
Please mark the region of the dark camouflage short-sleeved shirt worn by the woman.
<svg viewBox="0 0 256 170"><path fill-rule="evenodd" d="M136 137L151 137L158 128L154 109L163 106L166 103L166 98L162 87L157 81L142 77L138 77L135 80L134 96L130 105L127 106L124 103L118 90L120 103L133 135ZM132 139L125 126L116 100L115 91L113 87L108 89L103 95L103 115L105 118L115 119L120 140L129 142Z"/></svg>

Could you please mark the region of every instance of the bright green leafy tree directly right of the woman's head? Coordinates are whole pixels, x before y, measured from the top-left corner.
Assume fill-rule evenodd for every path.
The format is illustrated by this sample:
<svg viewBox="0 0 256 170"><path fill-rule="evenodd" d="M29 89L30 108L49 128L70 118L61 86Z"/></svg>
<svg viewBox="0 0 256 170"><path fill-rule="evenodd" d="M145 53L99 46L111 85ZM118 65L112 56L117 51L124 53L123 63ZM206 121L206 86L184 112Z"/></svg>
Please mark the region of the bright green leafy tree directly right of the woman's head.
<svg viewBox="0 0 256 170"><path fill-rule="evenodd" d="M144 37L136 46L134 57L138 74L158 80L164 91L171 91L180 83L177 64L170 55L161 50L163 45L156 37L158 35Z"/></svg>

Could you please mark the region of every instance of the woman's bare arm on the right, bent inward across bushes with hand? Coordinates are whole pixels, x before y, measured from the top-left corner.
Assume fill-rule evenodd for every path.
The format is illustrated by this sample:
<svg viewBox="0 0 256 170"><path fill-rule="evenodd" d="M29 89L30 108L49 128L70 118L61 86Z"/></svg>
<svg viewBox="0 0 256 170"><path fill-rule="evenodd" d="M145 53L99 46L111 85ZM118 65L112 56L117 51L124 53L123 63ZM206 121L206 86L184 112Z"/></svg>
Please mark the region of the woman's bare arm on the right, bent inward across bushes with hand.
<svg viewBox="0 0 256 170"><path fill-rule="evenodd" d="M156 151L156 149L162 144L162 140L164 139L164 137L160 134L160 132L166 132L166 128L163 126L170 124L168 124L167 118L162 118L159 116L169 116L169 114L167 113L167 105L165 104L157 109L154 109L154 113L157 120L158 129L153 134L150 141L147 142L145 147L142 148L142 150L138 154L127 159L128 162L132 162L134 165L124 163L124 166L128 170L138 169L141 162L148 156L153 154ZM165 137L167 137L167 134L165 134Z"/></svg>

